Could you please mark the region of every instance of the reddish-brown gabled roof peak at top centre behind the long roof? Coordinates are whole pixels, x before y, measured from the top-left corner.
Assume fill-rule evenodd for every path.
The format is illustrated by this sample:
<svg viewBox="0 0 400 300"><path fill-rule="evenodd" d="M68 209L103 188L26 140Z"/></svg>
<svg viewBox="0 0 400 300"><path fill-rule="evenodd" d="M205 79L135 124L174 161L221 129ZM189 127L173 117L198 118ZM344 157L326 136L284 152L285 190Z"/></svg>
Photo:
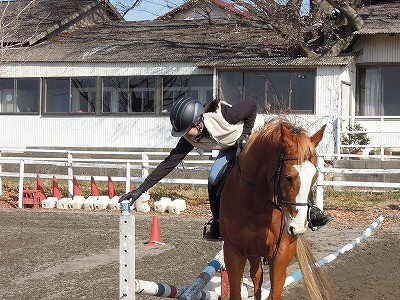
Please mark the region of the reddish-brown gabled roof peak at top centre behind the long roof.
<svg viewBox="0 0 400 300"><path fill-rule="evenodd" d="M194 10L195 8L204 7L204 5L215 5L218 8L225 10L227 16L229 14L234 14L239 17L249 17L250 14L242 9L237 8L232 1L229 0L189 0L184 4L176 7L175 9L167 12L166 14L158 17L156 20L171 20L174 19L175 16L182 14L183 12L187 12L190 10Z"/></svg>

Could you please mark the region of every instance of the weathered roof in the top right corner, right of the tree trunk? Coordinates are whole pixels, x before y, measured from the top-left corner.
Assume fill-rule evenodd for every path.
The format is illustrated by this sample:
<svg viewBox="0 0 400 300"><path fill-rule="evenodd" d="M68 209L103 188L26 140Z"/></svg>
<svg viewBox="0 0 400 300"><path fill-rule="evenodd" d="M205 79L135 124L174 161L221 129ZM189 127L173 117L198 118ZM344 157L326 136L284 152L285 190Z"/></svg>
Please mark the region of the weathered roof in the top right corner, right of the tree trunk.
<svg viewBox="0 0 400 300"><path fill-rule="evenodd" d="M400 33L400 1L371 2L358 10L365 25L355 34Z"/></svg>

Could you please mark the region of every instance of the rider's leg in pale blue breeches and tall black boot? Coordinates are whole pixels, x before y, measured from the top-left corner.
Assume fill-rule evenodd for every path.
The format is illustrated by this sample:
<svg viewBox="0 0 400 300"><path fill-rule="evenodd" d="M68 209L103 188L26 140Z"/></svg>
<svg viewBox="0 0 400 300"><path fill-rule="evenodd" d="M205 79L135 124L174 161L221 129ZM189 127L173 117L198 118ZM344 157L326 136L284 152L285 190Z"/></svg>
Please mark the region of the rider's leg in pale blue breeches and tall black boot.
<svg viewBox="0 0 400 300"><path fill-rule="evenodd" d="M210 200L210 209L212 220L209 227L204 228L203 237L206 240L221 240L219 233L219 195L217 195L217 178L222 167L236 156L236 148L230 148L219 152L208 176L208 199Z"/></svg>

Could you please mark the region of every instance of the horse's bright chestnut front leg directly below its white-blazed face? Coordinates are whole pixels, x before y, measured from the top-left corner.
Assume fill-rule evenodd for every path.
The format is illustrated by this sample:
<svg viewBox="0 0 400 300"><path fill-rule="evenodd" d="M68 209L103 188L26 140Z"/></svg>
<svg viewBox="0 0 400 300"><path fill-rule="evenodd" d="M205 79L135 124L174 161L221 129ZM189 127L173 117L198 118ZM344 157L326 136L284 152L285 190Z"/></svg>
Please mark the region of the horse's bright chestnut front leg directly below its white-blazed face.
<svg viewBox="0 0 400 300"><path fill-rule="evenodd" d="M280 244L280 249L275 260L270 264L269 277L271 281L271 290L269 300L281 300L283 285L286 280L287 268L296 252L296 242L284 240Z"/></svg>

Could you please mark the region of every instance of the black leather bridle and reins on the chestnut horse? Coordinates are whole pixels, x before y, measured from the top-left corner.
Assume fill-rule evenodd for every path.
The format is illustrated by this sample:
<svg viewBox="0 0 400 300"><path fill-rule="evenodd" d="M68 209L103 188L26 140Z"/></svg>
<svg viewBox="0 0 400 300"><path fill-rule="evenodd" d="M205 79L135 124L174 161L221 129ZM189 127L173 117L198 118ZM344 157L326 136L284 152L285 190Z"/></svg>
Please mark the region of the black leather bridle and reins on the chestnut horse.
<svg viewBox="0 0 400 300"><path fill-rule="evenodd" d="M308 159L310 159L310 157L308 157ZM270 205L274 208L277 209L280 213L281 213L281 226L280 226L280 231L279 231L279 236L278 236L278 240L277 243L275 245L275 249L274 252L272 254L271 259L268 261L266 257L264 257L264 264L271 264L274 260L275 257L278 253L278 249L279 249L279 244L281 243L282 240L282 235L283 235L283 230L284 230L284 212L282 209L282 205L292 205L292 206L308 206L308 203L300 203L300 202L291 202L291 201L287 201L283 198L281 190L280 190L280 179L281 179L281 172L282 172L282 167L283 164L285 163L285 161L290 161L290 160L298 160L299 158L296 156L286 156L285 155L285 150L282 148L281 150L281 154L279 155L279 160L278 160L278 164L275 170L274 175L272 176L272 178L270 180L268 180L268 186L271 184L271 181L275 179L274 181L274 195L272 197L272 199L276 199L276 202L268 199ZM239 160L236 158L236 166L238 168L238 172L239 172L239 177L240 179L254 192L256 193L258 196L260 196L262 199L265 199L266 196L263 195L260 191L258 191L250 182L248 182L245 178L243 178L242 176L242 172L240 169L240 165L239 165Z"/></svg>

